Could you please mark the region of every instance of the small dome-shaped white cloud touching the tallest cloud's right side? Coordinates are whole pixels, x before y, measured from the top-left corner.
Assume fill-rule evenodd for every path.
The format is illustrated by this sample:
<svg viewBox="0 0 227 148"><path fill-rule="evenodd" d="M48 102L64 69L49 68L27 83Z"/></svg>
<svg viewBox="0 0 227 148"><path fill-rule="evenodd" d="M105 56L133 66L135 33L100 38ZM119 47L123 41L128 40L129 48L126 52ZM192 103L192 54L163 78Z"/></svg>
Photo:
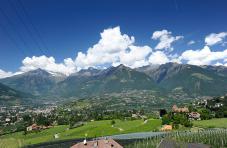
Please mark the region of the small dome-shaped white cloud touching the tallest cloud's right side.
<svg viewBox="0 0 227 148"><path fill-rule="evenodd" d="M170 62L167 55L162 51L155 51L149 57L149 63L151 64L165 64Z"/></svg>

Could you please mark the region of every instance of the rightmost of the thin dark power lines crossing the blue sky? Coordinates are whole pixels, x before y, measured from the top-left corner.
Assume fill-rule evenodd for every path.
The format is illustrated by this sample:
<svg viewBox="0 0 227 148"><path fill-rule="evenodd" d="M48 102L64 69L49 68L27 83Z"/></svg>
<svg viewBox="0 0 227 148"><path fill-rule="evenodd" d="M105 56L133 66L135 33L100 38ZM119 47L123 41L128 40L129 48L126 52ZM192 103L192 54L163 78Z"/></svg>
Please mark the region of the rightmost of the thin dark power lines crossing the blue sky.
<svg viewBox="0 0 227 148"><path fill-rule="evenodd" d="M17 2L21 5L22 10L23 10L25 16L27 17L27 20L30 22L30 24L31 24L31 26L32 26L32 28L33 28L33 30L36 32L36 34L37 34L39 40L42 42L44 48L45 48L46 50L49 51L48 46L46 45L46 42L44 41L43 37L41 36L41 33L40 33L40 31L38 30L38 28L37 28L37 27L35 26L35 24L32 22L29 13L27 12L26 8L24 7L24 4L22 3L21 0L17 0Z"/></svg>

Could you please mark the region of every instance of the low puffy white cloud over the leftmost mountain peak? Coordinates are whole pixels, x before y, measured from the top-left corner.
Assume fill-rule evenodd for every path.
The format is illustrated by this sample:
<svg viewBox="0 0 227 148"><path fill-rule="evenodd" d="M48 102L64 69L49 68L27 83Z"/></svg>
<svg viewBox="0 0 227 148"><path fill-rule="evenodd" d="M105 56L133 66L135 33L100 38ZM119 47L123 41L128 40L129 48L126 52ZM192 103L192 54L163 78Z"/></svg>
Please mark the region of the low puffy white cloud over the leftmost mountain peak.
<svg viewBox="0 0 227 148"><path fill-rule="evenodd" d="M76 72L76 66L72 59L64 59L63 63L56 63L53 57L26 57L23 61L23 66L20 67L21 72L27 72L41 68L48 72L61 73L65 75L70 75L71 73Z"/></svg>

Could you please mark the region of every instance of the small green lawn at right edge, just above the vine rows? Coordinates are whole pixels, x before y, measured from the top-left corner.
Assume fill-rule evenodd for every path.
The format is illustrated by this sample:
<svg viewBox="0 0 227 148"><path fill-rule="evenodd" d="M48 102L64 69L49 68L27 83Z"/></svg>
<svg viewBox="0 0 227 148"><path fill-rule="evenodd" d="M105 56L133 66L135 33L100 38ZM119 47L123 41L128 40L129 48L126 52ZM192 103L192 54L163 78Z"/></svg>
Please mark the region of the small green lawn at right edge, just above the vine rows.
<svg viewBox="0 0 227 148"><path fill-rule="evenodd" d="M193 125L202 128L227 128L227 118L193 121Z"/></svg>

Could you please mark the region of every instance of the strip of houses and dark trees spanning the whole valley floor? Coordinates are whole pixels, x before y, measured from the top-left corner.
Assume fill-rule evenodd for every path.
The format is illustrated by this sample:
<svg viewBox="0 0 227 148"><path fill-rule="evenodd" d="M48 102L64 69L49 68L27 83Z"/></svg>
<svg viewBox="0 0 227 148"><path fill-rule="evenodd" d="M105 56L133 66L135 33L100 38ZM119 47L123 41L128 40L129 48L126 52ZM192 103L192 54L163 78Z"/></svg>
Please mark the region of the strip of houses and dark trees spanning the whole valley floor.
<svg viewBox="0 0 227 148"><path fill-rule="evenodd" d="M226 117L227 103L222 100L226 99L224 97L201 99L188 105L179 105L182 107L173 105L170 110L160 109L159 112L154 112L152 118L162 119L163 126L160 131L178 129L180 126L191 127L193 120ZM148 114L145 112L144 110L103 111L99 110L99 107L73 111L70 108L58 108L56 105L42 107L1 106L0 134L16 131L26 131L26 133L40 131L54 125L69 124L70 127L77 127L90 120L143 119L146 122ZM10 130L5 131L4 129ZM55 137L57 138L58 135Z"/></svg>

